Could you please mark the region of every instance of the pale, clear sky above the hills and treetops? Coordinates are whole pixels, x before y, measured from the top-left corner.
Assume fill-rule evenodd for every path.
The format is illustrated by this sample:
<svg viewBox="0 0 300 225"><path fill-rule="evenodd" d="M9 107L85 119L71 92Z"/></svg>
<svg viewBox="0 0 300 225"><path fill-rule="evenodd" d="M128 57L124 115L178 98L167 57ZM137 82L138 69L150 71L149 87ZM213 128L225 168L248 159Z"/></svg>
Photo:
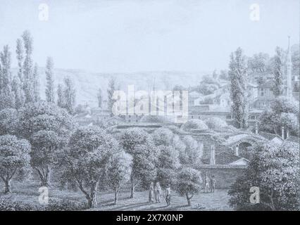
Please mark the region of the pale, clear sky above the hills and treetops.
<svg viewBox="0 0 300 225"><path fill-rule="evenodd" d="M39 66L51 56L56 68L91 72L222 70L239 46L273 55L288 35L299 43L299 11L298 0L0 0L0 48L16 66L15 40L30 30Z"/></svg>

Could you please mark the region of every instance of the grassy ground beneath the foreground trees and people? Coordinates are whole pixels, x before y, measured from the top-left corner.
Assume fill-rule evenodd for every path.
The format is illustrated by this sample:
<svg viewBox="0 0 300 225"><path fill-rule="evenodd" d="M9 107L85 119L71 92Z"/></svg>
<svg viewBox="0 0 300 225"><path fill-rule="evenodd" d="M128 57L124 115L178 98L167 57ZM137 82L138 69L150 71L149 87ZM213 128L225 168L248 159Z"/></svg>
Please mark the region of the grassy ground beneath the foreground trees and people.
<svg viewBox="0 0 300 225"><path fill-rule="evenodd" d="M0 184L1 190L4 189ZM12 188L13 193L4 195L1 198L9 198L10 200L20 201L30 205L39 205L39 186L32 182L15 182ZM171 196L171 205L167 207L165 199L161 198L161 203L148 203L148 192L139 191L135 193L135 198L129 198L129 192L119 193L117 205L113 205L114 194L111 192L100 192L97 195L98 207L91 209L98 210L151 210L151 211L180 211L180 210L232 210L228 202L227 189L218 189L215 193L199 193L192 198L192 205L187 205L187 199L173 193ZM74 200L85 203L85 196L81 191L59 190L58 188L49 187L49 199Z"/></svg>

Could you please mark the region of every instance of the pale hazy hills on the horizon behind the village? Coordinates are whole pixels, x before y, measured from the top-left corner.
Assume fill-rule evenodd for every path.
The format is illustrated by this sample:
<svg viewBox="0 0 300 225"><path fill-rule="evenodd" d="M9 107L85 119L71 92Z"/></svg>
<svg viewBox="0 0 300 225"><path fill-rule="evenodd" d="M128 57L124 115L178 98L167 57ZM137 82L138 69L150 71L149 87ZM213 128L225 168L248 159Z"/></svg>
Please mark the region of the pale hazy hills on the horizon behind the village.
<svg viewBox="0 0 300 225"><path fill-rule="evenodd" d="M111 77L115 77L116 82L120 85L120 89L127 90L127 85L135 85L135 90L151 91L154 86L156 90L171 90L176 84L182 86L194 86L199 84L203 75L210 72L135 72L135 73L96 73L87 72L85 70L54 70L55 86L63 83L63 78L69 76L73 79L76 86L77 96L76 103L89 103L89 105L97 104L97 91L102 89L104 98L106 98L106 90L108 81ZM17 69L13 69L13 75L17 74ZM41 84L41 96L44 99L46 75L44 68L39 68L39 81Z"/></svg>

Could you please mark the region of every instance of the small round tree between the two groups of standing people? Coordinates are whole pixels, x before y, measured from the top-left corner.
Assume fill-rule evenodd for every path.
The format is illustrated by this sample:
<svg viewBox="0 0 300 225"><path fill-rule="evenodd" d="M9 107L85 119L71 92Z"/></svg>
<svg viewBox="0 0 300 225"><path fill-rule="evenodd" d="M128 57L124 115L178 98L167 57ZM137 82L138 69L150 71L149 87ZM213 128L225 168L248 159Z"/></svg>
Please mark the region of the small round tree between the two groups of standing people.
<svg viewBox="0 0 300 225"><path fill-rule="evenodd" d="M198 170L184 168L180 171L177 178L177 191L181 196L187 198L187 204L191 205L191 199L201 190L201 174Z"/></svg>

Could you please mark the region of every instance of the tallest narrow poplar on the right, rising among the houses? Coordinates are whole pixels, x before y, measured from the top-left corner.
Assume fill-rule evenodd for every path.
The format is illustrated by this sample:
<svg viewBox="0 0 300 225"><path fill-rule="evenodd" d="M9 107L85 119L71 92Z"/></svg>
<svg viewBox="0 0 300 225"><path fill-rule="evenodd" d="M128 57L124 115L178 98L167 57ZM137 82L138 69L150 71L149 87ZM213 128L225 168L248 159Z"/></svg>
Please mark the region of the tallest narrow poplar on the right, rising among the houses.
<svg viewBox="0 0 300 225"><path fill-rule="evenodd" d="M246 95L246 57L241 48L230 55L230 97L232 113L237 128L246 128L248 120L248 103Z"/></svg>

